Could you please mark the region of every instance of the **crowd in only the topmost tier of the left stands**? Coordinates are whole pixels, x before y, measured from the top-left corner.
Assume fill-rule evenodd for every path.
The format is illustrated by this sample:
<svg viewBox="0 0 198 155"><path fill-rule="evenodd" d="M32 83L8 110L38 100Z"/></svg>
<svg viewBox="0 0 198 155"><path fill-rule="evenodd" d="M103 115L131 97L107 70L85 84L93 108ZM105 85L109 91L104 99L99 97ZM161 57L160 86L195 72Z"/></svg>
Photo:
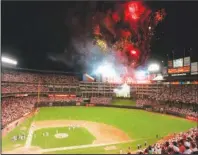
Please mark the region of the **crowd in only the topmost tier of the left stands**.
<svg viewBox="0 0 198 155"><path fill-rule="evenodd" d="M24 82L24 83L77 83L78 78L75 76L68 76L63 74L49 74L49 73L29 73L21 71L7 71L2 72L2 81L7 82Z"/></svg>

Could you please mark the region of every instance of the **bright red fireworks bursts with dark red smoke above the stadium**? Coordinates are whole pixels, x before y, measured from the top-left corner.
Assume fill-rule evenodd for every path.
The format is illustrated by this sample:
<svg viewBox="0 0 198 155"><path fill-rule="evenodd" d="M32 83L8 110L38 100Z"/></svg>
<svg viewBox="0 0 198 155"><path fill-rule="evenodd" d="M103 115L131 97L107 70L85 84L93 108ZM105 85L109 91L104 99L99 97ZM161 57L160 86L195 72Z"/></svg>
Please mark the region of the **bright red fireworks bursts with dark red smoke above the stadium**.
<svg viewBox="0 0 198 155"><path fill-rule="evenodd" d="M165 10L153 13L140 1L127 2L119 8L97 12L92 18L92 33L102 51L121 52L117 59L125 66L136 67L148 57L154 29L164 19Z"/></svg>

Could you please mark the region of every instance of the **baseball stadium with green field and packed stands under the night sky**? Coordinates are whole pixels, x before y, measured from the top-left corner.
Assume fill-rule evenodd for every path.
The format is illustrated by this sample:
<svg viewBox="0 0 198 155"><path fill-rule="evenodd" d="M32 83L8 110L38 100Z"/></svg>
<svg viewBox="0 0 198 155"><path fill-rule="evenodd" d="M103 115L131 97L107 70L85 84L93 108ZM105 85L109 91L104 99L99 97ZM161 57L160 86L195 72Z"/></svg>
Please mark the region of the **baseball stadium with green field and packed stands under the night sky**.
<svg viewBox="0 0 198 155"><path fill-rule="evenodd" d="M78 77L3 68L3 153L136 153L197 132L194 80L122 84Z"/></svg>

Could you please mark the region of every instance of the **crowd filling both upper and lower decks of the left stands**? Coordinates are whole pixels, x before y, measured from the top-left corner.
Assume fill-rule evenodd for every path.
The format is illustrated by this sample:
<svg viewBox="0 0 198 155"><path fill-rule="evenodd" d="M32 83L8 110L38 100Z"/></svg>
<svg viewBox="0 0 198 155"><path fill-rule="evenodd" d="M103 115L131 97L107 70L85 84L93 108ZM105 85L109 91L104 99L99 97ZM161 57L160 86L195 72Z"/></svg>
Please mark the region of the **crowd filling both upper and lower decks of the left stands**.
<svg viewBox="0 0 198 155"><path fill-rule="evenodd" d="M10 93L37 93L67 91L76 92L78 78L65 74L24 72L16 70L2 70L2 94ZM19 94L19 96L20 96ZM3 96L2 95L2 96ZM23 94L21 94L23 96ZM18 96L18 95L16 95ZM82 102L78 97L3 97L2 98L2 124L3 126L31 112L35 103L39 102Z"/></svg>

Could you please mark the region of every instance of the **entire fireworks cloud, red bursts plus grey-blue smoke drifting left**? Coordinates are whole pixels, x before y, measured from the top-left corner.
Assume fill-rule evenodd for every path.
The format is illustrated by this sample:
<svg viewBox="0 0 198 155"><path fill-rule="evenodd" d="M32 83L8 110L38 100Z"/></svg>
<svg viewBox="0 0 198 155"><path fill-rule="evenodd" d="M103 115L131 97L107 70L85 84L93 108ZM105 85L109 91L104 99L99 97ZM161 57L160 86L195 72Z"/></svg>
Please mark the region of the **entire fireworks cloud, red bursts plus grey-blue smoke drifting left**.
<svg viewBox="0 0 198 155"><path fill-rule="evenodd" d="M85 72L103 62L119 73L135 69L148 58L154 30L165 15L164 9L153 12L141 1L83 2L65 18L71 34L65 52L50 57Z"/></svg>

